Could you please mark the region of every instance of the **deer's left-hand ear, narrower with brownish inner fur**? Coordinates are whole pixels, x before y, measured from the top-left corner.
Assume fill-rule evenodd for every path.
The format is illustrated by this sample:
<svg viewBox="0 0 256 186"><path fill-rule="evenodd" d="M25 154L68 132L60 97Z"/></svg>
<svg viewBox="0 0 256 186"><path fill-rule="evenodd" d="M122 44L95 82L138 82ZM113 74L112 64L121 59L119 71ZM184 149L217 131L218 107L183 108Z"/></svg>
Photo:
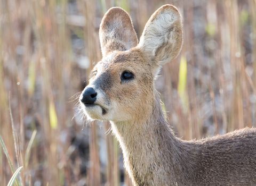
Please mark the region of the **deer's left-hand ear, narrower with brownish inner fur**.
<svg viewBox="0 0 256 186"><path fill-rule="evenodd" d="M129 50L137 44L137 35L129 14L119 7L109 9L100 24L103 57L114 50Z"/></svg>

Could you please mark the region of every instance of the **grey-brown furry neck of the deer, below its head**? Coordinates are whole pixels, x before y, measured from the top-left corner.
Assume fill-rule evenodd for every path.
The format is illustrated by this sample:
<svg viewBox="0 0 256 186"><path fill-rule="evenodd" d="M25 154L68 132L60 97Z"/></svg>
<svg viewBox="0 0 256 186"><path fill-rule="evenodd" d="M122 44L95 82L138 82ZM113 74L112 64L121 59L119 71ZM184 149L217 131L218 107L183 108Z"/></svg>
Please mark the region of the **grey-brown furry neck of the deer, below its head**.
<svg viewBox="0 0 256 186"><path fill-rule="evenodd" d="M191 176L186 175L186 172L193 172L198 159L199 152L193 143L174 136L165 120L157 93L155 97L147 120L110 122L134 185L151 185L150 182L154 183L152 185L181 183L179 180Z"/></svg>

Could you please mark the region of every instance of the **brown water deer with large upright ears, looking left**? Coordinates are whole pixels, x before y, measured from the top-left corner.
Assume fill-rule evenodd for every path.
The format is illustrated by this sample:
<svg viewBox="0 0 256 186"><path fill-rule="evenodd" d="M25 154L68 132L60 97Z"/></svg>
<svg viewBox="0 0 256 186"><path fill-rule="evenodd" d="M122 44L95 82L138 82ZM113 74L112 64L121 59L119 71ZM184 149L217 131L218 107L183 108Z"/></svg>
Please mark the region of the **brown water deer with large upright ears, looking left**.
<svg viewBox="0 0 256 186"><path fill-rule="evenodd" d="M89 120L110 121L133 185L256 185L256 130L185 141L165 119L154 81L178 56L181 16L164 5L138 43L131 18L119 7L100 24L102 60L79 97Z"/></svg>

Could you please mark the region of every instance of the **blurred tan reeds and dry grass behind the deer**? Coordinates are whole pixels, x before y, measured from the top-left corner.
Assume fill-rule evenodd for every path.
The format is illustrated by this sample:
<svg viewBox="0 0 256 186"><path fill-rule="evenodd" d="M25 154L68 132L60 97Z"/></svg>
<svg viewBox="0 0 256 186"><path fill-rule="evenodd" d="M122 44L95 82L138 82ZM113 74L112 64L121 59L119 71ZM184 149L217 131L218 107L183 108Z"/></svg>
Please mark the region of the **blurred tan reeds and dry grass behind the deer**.
<svg viewBox="0 0 256 186"><path fill-rule="evenodd" d="M0 185L20 166L19 186L132 185L109 123L87 123L77 101L107 10L126 10L139 38L164 4L183 17L182 51L156 81L175 134L255 127L256 0L1 0Z"/></svg>

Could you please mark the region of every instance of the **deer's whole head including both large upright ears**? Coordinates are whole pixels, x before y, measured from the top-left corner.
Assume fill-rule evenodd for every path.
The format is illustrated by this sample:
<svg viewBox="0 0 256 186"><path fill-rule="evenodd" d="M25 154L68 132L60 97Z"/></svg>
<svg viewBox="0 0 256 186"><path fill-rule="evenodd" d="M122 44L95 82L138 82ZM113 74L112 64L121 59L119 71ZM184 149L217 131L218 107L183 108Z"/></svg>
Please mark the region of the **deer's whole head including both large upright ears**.
<svg viewBox="0 0 256 186"><path fill-rule="evenodd" d="M159 66L175 58L182 45L180 15L162 6L149 19L139 45L130 16L110 9L100 25L103 58L80 96L89 119L135 121L150 114Z"/></svg>

